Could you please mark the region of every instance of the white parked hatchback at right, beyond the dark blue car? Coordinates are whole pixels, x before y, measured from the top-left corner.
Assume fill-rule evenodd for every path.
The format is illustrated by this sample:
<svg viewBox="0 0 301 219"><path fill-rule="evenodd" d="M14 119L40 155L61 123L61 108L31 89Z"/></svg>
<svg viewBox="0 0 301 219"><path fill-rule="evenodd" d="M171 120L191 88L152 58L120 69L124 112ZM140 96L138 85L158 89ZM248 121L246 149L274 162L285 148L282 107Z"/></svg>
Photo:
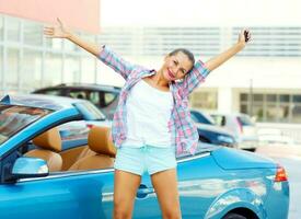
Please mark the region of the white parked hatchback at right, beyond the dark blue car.
<svg viewBox="0 0 301 219"><path fill-rule="evenodd" d="M247 114L210 113L215 123L231 131L238 139L240 149L255 151L258 147L258 135L256 124Z"/></svg>

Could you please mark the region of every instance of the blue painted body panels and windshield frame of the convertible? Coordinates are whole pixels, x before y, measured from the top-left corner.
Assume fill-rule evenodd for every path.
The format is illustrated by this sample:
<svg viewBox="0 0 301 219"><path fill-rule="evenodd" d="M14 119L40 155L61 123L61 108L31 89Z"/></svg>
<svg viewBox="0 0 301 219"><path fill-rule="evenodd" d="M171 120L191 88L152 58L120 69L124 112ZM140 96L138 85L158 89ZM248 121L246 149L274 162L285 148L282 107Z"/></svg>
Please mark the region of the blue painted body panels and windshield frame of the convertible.
<svg viewBox="0 0 301 219"><path fill-rule="evenodd" d="M77 110L63 108L32 124L3 143L0 155L35 131L76 115ZM287 218L289 184L275 183L275 173L276 164L270 160L227 148L180 159L177 178L183 218L221 218L234 208L247 208L261 219ZM51 173L0 184L0 218L112 218L113 184L112 169ZM150 176L144 175L141 185L134 218L160 218ZM281 209L276 207L279 204Z"/></svg>

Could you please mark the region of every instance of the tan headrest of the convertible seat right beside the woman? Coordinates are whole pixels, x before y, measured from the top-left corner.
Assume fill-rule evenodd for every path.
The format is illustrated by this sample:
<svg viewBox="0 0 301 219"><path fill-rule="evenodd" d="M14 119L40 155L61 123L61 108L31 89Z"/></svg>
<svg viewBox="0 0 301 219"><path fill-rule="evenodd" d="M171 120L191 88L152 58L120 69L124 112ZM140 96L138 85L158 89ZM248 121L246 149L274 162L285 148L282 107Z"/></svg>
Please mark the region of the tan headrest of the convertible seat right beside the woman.
<svg viewBox="0 0 301 219"><path fill-rule="evenodd" d="M111 138L111 128L93 126L88 136L89 148L100 154L115 157L116 149Z"/></svg>

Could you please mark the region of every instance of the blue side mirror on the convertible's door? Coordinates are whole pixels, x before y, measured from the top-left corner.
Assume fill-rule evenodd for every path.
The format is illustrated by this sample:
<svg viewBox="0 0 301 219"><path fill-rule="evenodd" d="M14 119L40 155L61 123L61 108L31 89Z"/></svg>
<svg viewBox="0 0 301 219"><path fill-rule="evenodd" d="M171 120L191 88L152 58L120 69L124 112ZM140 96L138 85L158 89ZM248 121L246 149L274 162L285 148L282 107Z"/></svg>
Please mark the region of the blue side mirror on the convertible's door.
<svg viewBox="0 0 301 219"><path fill-rule="evenodd" d="M42 177L49 174L47 162L39 158L19 158L13 164L14 178Z"/></svg>

